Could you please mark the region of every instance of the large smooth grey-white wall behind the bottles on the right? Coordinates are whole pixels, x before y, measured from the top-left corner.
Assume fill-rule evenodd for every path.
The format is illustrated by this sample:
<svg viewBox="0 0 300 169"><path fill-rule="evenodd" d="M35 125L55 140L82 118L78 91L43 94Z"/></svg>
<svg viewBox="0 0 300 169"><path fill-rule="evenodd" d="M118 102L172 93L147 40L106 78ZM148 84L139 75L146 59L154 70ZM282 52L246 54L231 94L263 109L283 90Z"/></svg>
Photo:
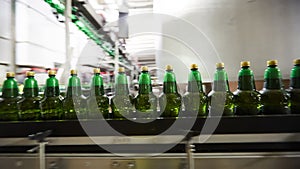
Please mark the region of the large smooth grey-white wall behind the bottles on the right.
<svg viewBox="0 0 300 169"><path fill-rule="evenodd" d="M206 65L209 74L213 74L214 63L225 62L229 80L237 80L240 61L249 60L252 63L256 79L262 79L266 61L278 59L284 78L289 77L292 60L300 57L300 1L299 0L193 0L173 7L171 0L154 1L156 12L180 17L201 30L212 45L207 46L205 39L191 34L199 42L197 58L187 53L186 49L175 48L174 43L162 38L162 48L174 51L178 58L157 56L166 62L179 60L174 67L188 67L190 63ZM162 4L168 5L162 5ZM177 5L176 5L177 4ZM165 23L164 31L189 31L184 25L173 27L172 22ZM176 46L176 45L175 45ZM211 53L207 48L214 46L217 53ZM184 59L183 59L184 58ZM198 59L198 60L197 60ZM200 59L200 61L199 61ZM185 63L189 61L189 64ZM204 79L212 80L212 76L201 71ZM178 73L179 79L187 77L186 71ZM186 80L185 80L186 81ZM183 82L183 81L182 81Z"/></svg>

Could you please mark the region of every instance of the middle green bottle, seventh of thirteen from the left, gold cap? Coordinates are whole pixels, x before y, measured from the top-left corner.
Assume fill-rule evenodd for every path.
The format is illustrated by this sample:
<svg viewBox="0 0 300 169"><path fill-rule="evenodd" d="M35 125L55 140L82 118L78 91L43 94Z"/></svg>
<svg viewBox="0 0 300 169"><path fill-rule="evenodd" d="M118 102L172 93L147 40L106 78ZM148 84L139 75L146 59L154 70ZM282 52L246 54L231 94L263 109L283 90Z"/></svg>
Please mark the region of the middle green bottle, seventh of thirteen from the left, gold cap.
<svg viewBox="0 0 300 169"><path fill-rule="evenodd" d="M148 67L142 66L139 76L139 93L134 99L137 118L157 117L157 98L152 92Z"/></svg>

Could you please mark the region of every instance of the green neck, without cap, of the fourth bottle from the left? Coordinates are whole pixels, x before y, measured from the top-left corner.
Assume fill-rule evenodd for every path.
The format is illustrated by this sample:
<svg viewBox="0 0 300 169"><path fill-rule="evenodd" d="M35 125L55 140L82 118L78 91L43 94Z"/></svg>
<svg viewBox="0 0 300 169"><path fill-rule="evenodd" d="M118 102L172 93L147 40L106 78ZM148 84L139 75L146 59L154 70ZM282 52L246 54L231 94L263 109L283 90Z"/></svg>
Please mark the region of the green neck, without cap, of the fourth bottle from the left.
<svg viewBox="0 0 300 169"><path fill-rule="evenodd" d="M77 75L71 75L66 97L81 96L81 83Z"/></svg>

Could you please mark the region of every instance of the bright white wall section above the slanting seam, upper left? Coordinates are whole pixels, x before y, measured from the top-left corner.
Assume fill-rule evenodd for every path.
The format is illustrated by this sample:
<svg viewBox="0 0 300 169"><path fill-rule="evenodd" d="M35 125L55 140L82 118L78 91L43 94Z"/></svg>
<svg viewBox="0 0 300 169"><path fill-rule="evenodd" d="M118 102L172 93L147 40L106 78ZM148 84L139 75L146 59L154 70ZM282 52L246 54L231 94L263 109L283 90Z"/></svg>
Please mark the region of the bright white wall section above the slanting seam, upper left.
<svg viewBox="0 0 300 169"><path fill-rule="evenodd" d="M39 9L28 7L24 3L17 3L17 41L31 42L57 52L64 52L64 24L51 20L54 18L52 13L46 15L51 11L50 7L45 9L46 12L38 11Z"/></svg>

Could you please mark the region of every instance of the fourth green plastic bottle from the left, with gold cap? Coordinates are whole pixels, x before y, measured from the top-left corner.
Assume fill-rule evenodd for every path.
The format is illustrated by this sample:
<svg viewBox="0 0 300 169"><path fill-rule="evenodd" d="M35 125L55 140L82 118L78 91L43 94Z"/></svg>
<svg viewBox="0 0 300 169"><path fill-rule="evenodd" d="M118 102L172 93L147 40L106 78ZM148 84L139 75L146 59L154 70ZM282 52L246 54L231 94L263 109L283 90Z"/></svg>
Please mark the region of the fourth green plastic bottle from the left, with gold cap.
<svg viewBox="0 0 300 169"><path fill-rule="evenodd" d="M63 109L67 120L87 118L87 101L82 95L81 82L76 70L71 70L67 94L63 100Z"/></svg>

